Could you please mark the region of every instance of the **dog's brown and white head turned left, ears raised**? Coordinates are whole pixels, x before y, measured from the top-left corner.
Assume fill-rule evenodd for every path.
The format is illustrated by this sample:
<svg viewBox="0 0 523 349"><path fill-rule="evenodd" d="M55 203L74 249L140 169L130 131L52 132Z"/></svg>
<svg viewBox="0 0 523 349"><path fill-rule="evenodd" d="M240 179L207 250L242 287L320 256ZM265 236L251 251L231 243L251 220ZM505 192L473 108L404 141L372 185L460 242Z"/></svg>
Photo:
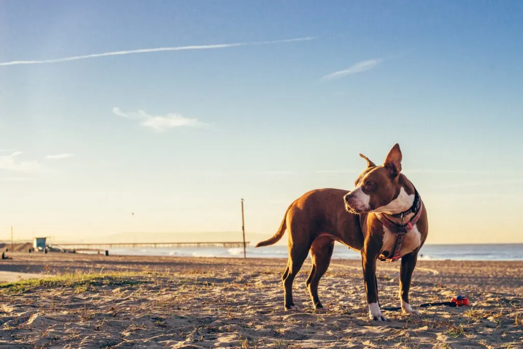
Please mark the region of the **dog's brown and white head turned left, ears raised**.
<svg viewBox="0 0 523 349"><path fill-rule="evenodd" d="M403 185L403 181L400 181L402 160L400 145L396 143L392 147L383 165L374 164L363 154L360 156L367 160L367 168L356 179L354 190L344 196L347 211L401 212L404 209L401 205L402 201L406 196L414 193L411 188Z"/></svg>

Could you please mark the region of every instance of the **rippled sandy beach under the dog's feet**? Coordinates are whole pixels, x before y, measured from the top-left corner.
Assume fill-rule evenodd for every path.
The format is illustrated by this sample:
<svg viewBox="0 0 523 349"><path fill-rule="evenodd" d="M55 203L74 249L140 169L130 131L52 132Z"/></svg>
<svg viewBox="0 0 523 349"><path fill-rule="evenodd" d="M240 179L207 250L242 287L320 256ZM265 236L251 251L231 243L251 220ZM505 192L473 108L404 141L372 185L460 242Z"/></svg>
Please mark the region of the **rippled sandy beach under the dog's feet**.
<svg viewBox="0 0 523 349"><path fill-rule="evenodd" d="M411 303L368 319L360 261L333 260L311 308L305 262L298 311L283 310L286 260L10 254L0 270L75 275L0 288L0 347L523 348L523 262L418 262ZM89 273L89 274L80 274ZM382 306L398 306L399 263L378 265Z"/></svg>

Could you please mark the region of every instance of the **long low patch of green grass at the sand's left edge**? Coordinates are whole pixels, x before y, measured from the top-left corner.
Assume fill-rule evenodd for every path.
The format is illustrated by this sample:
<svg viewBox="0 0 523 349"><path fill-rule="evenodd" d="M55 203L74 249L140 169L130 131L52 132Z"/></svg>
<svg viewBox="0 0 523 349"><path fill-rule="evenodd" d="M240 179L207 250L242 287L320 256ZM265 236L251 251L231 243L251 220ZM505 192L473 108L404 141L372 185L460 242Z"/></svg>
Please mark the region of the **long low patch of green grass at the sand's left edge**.
<svg viewBox="0 0 523 349"><path fill-rule="evenodd" d="M140 279L142 276L142 279ZM128 286L143 283L140 273L112 274L64 274L41 279L21 280L14 283L0 283L0 294L12 295L30 292L40 288L72 288L75 293L85 292L92 287Z"/></svg>

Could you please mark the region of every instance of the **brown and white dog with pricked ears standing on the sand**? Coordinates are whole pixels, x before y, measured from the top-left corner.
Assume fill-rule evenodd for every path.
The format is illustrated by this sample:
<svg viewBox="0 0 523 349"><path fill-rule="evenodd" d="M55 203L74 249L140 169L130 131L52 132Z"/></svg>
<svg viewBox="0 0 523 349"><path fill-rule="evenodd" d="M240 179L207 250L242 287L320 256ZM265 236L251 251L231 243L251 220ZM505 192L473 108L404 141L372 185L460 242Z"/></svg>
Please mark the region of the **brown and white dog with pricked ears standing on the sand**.
<svg viewBox="0 0 523 349"><path fill-rule="evenodd" d="M347 193L343 189L316 189L292 202L276 234L256 247L281 239L289 230L289 260L282 275L286 310L297 308L292 283L311 252L312 269L306 285L314 308L322 308L318 283L325 274L338 241L361 252L369 318L386 321L378 302L376 261L401 258L400 301L403 313L417 312L408 300L408 290L417 255L428 233L427 211L414 185L401 173L402 154L395 144L383 165L366 156L367 168Z"/></svg>

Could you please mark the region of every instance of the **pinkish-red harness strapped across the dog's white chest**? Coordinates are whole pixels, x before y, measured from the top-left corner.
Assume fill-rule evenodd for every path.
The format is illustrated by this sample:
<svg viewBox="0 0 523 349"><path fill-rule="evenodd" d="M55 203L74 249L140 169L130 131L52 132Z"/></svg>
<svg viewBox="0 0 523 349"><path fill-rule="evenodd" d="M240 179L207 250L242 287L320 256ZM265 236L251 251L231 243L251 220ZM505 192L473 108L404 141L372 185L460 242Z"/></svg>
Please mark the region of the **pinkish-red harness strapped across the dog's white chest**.
<svg viewBox="0 0 523 349"><path fill-rule="evenodd" d="M378 218L379 221L392 233L396 234L396 243L394 245L394 250L391 252L389 257L380 257L380 261L382 262L395 262L401 258L400 251L401 247L403 246L403 240L405 239L405 235L414 229L414 226L418 222L419 218L421 218L422 216L423 201L419 197L419 194L416 189L414 189L414 195L414 204L410 209L406 211L397 213L396 215L385 215L384 213L376 213L376 218ZM412 217L411 220L407 223L404 223L403 217L405 217L406 214L411 212L414 213L414 217ZM398 224L387 216L401 217L402 223Z"/></svg>

